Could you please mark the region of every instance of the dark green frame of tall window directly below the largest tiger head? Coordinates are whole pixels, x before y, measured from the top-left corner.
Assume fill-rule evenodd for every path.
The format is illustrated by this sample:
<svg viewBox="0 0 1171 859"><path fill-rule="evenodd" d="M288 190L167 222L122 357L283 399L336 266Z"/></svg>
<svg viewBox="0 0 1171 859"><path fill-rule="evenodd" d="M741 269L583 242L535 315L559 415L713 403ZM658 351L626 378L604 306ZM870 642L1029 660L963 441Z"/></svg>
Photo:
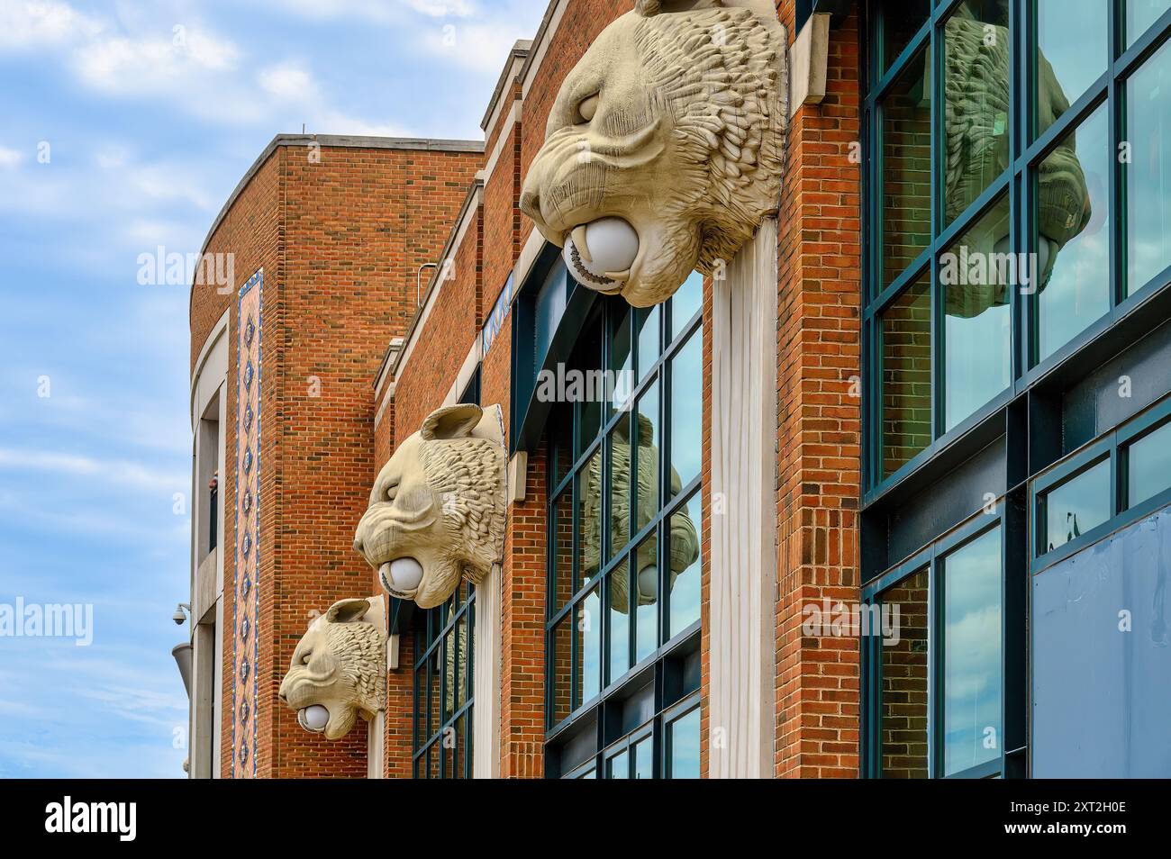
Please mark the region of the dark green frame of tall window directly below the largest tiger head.
<svg viewBox="0 0 1171 859"><path fill-rule="evenodd" d="M689 480L687 483L683 485L680 490L672 495L671 493L671 463L673 461L671 452L672 433L670 428L671 413L672 413L672 391L671 391L671 373L673 371L673 359L683 352L685 348L691 345L696 337L703 338L705 336L703 325L703 308L696 310L690 318L676 319L673 316L677 310L677 300L672 298L664 304L658 305L656 309L651 310L638 310L629 308L629 305L622 298L605 298L600 297L595 302L590 314L587 318L587 323L583 327L583 332L590 331L591 325L596 325L601 334L601 350L598 353L600 365L596 369L605 369L612 366L611 360L611 348L617 331L621 329L622 323L626 318L626 314L630 314L631 321L635 318L645 318L648 315L653 314L656 316L655 324L657 325L657 331L652 332L658 337L658 357L652 362L644 359L644 356L639 355L641 341L646 336L645 331L637 330L636 325L630 325L630 365L636 369L636 374L639 377L637 384L632 386L629 396L626 398L628 410L615 410L614 414L610 414L610 406L605 403L601 405L602 414L598 420L600 428L596 434L587 440L584 445L580 444L580 437L582 434L582 403L574 403L571 405L564 404L561 408L561 414L559 415L554 411L550 415L550 427L557 427L556 421L566 421L568 418L568 426L562 424L559 432L547 432L546 438L549 445L549 487L548 487L548 532L547 532L547 545L549 547L548 562L547 562L547 580L549 586L547 589L547 610L546 610L546 745L547 749L556 748L564 744L571 736L584 737L584 742L588 748L593 750L593 754L582 761L573 763L568 767L560 767L556 763L552 763L555 756L550 756L547 753L546 756L546 769L547 775L560 776L566 778L595 778L605 777L607 767L609 762L616 756L621 755L623 750L632 750L634 745L641 740L646 740L651 743L653 751L653 777L665 778L669 777L669 764L666 762L666 726L672 722L672 720L697 709L700 703L699 699L699 632L700 632L700 620L697 618L694 621L690 623L685 628L674 632L674 634L667 634L670 630L670 611L671 600L665 598L670 589L665 587L667 580L669 570L669 558L670 558L670 547L671 547L671 517L685 510L690 502L699 497L703 483L703 470ZM635 315L638 315L637 317ZM582 341L587 341L588 336L583 336ZM575 364L576 366L576 364ZM639 371L641 367L641 371ZM701 396L701 379L696 379L694 396ZM639 403L644 393L646 393L652 387L658 389L658 414L656 426L658 427L658 446L659 446L659 481L658 481L658 510L655 516L644 524L637 532L634 531L635 524L635 504L631 504L631 521L629 522L628 534L629 538L624 547L611 547L611 529L610 523L610 504L611 504L611 455L608 439L611 433L623 420L630 420L631 412L635 411L635 404ZM632 421L631 432L637 437L637 420ZM632 440L637 445L637 438ZM557 446L567 446L569 449L569 455L567 461L569 467L566 469L566 474L557 474L554 463L559 462L560 455ZM581 449L581 453L576 453ZM602 456L602 474L604 475L603 486L601 488L601 548L600 548L600 566L597 573L594 575L589 580L584 580L584 576L581 575L581 547L580 542L580 517L581 517L581 503L580 503L580 485L581 477L589 467L590 460L600 454ZM631 475L630 485L637 486L638 482L638 462L637 456L631 458ZM571 572L573 582L581 583L575 587L575 592L562 606L556 606L556 557L555 557L555 544L556 534L559 530L559 510L557 501L562 497L564 493L569 493L571 503L569 509L573 516L573 552L571 552ZM696 528L700 528L700 523L694 523ZM610 660L610 646L612 644L611 639L611 612L608 610L610 606L610 593L611 593L611 573L617 570L623 564L629 565L629 570L635 571L637 566L635 565L635 556L638 548L648 538L656 540L658 551L657 551L657 576L658 576L658 590L657 593L659 598L656 600L656 639L655 646L651 651L644 655L642 659L636 660L636 638L634 634L628 637L628 646L630 651L628 653L628 669L623 672L619 676L611 676L611 660ZM614 549L614 551L611 551ZM612 554L612 557L611 557ZM635 573L630 573L629 582L634 582ZM632 591L634 589L628 589ZM555 630L559 624L570 621L577 617L584 600L591 593L598 593L601 596L601 605L604 609L601 613L601 655L600 655L600 672L601 672L601 693L595 696L590 696L589 700L578 701L576 682L573 681L571 689L571 701L570 710L568 716L555 720L555 672L556 668L553 667L554 660L556 660L556 641L555 641ZM628 616L628 624L630 628L634 630L636 619L634 617L634 611ZM569 635L570 639L570 678L576 676L576 666L580 665L581 654L578 653L578 637ZM631 702L637 701L638 705L635 706ZM629 713L631 709L639 709L643 716L637 719L636 724L630 724L628 717L623 714ZM593 733L593 736L590 736ZM578 740L577 742L582 742ZM629 761L629 758L628 758ZM631 762L632 768L632 762ZM630 770L634 772L634 770Z"/></svg>

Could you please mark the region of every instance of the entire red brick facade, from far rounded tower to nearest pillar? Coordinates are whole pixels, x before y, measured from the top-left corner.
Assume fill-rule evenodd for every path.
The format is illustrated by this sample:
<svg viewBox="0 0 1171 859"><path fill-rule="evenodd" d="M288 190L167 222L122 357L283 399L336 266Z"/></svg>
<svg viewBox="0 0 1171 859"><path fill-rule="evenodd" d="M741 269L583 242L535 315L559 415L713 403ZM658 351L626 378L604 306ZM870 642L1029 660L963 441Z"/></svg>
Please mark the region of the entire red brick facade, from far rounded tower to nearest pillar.
<svg viewBox="0 0 1171 859"><path fill-rule="evenodd" d="M265 407L279 417L266 427L262 456L266 536L260 550L269 590L261 599L259 775L365 774L362 731L338 743L316 740L279 706L276 688L310 612L341 597L381 592L351 548L369 487L397 444L444 404L478 349L484 321L530 235L519 193L561 82L596 35L630 7L630 0L568 0L556 27L543 34L542 51L530 54L515 80L506 78L482 153L327 146L313 163L303 145L279 146L212 234L208 250L238 254L238 280L265 267L266 314L272 301L265 322L272 379ZM790 41L794 7L794 0L779 2ZM858 602L861 171L850 158L860 137L857 28L855 13L831 30L828 95L793 118L781 198L778 776L856 776L858 768L857 642L807 638L801 630L809 600ZM537 56L539 66L530 68ZM424 263L441 267L434 276L424 273L426 310L417 317L416 277ZM230 297L193 295L193 358L228 303ZM505 319L480 365L480 400L500 404L506 425L511 323ZM711 283L704 287L704 325L712 330ZM404 338L406 351L388 357L396 337ZM706 337L705 510L711 509L712 349ZM231 362L234 366L234 355ZM234 401L234 391L228 394ZM231 426L227 445L234 449ZM543 444L529 453L525 500L508 510L500 666L504 777L545 774L546 459ZM231 475L225 485L233 485ZM226 504L232 509L231 495ZM227 518L225 542L232 545ZM706 775L707 516L701 544L700 765ZM228 616L225 623L231 630ZM411 775L410 639L402 635L400 667L388 683L382 767L388 777ZM227 713L232 666L225 662ZM228 737L225 756L230 744Z"/></svg>

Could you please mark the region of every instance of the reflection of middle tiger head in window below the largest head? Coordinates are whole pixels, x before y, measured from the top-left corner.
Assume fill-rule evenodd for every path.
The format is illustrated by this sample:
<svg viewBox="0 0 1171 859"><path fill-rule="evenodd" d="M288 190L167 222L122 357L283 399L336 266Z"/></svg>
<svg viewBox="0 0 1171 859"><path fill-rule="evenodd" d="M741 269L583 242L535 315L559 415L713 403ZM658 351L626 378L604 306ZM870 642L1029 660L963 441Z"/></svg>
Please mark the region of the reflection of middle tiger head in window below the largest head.
<svg viewBox="0 0 1171 859"><path fill-rule="evenodd" d="M637 521L635 532L638 534L658 513L659 504L653 503L657 495L656 487L659 479L659 449L655 446L653 426L651 420L644 414L636 414L638 421L638 504L636 508ZM614 440L610 447L610 535L611 545L621 550L630 542L630 468L631 468L631 445L630 434L626 429L628 421L621 421L615 429ZM597 521L602 516L602 495L605 485L602 480L601 458L595 456L582 474L583 509L582 517L582 575L587 578L597 575L602 566L602 547L600 538L602 529L597 527ZM679 475L671 469L671 497L676 497L683 488ZM674 579L680 572L691 566L699 558L699 534L696 524L687 515L686 506L679 508L678 513L671 516L669 549L669 584L674 585ZM634 575L638 587L638 605L651 605L658 598L657 557L655 551L655 540L644 540L635 551ZM629 564L619 564L610 575L611 602L616 610L625 612L630 605L626 598L629 589L630 570Z"/></svg>

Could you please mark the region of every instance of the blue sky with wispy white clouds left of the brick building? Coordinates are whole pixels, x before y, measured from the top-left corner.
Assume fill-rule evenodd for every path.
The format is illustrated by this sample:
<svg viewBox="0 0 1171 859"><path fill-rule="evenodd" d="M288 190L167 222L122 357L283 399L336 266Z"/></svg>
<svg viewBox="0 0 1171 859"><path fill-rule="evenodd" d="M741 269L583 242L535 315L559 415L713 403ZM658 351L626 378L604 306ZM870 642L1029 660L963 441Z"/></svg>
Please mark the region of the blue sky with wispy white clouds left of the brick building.
<svg viewBox="0 0 1171 859"><path fill-rule="evenodd" d="M0 777L183 775L187 289L138 255L198 252L278 132L482 138L545 7L0 0L0 611L94 612L0 635Z"/></svg>

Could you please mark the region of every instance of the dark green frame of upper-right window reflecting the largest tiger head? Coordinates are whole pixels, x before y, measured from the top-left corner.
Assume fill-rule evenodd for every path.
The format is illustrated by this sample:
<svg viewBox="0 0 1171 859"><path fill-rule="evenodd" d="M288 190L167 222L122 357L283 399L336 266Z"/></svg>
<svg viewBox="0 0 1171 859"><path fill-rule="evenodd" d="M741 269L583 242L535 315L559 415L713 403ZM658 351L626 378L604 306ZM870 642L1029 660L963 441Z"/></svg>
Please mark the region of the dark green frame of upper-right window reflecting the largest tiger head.
<svg viewBox="0 0 1171 859"><path fill-rule="evenodd" d="M1036 75L1036 51L1030 46L1035 43L1035 6L1032 0L1012 0L1009 20L1012 44L1009 48L1009 165L972 201L967 208L950 225L944 217L943 163L939 153L944 133L943 110L936 109L931 115L931 239L918 256L882 288L883 235L883 142L882 142L882 99L892 91L899 76L919 56L930 48L930 80L932 87L931 103L944 103L944 50L943 34L949 15L964 0L936 0L931 6L927 20L910 39L897 57L882 56L885 39L883 4L877 0L868 2L870 37L864 42L876 46L867 60L870 87L863 101L863 151L867 166L864 171L865 207L863 266L865 270L863 314L863 356L869 366L864 383L864 405L869 425L875 427L867 434L865 444L865 503L878 499L909 474L931 460L940 451L949 447L956 439L979 426L999 410L1004 408L1016 394L1028 389L1034 382L1052 372L1055 367L1087 349L1117 322L1146 304L1156 294L1163 293L1171 284L1171 267L1157 274L1144 284L1127 283L1127 208L1125 208L1125 170L1127 166L1114 158L1110 171L1110 308L1109 311L1090 323L1081 334L1054 351L1045 360L1036 360L1036 295L1022 296L1021 290L1012 288L1011 315L1011 384L1000 394L972 414L947 429L944 422L943 404L946 401L944 390L945 367L944 355L944 290L938 283L939 255L956 242L992 207L1004 198L1009 204L1009 239L1011 252L1028 249L1036 221L1035 193L1032 187L1032 176L1036 166L1071 130L1103 104L1107 105L1110 152L1118 151L1118 145L1125 133L1125 88L1128 80L1141 69L1143 63L1163 47L1171 35L1171 11L1164 13L1145 33L1134 40L1128 40L1124 33L1124 0L1108 0L1110 4L1109 27L1102 34L1108 40L1108 68L1098 80L1081 95L1053 125L1033 139L1035 128L1035 109L1030 103L1032 82ZM1131 44L1127 47L1127 42ZM1022 59L1028 59L1025 62ZM915 282L927 275L931 293L931 442L918 454L890 474L884 474L883 466L883 414L882 387L883 378L882 352L878 327L882 312L893 304ZM1129 288L1129 294L1128 294Z"/></svg>

